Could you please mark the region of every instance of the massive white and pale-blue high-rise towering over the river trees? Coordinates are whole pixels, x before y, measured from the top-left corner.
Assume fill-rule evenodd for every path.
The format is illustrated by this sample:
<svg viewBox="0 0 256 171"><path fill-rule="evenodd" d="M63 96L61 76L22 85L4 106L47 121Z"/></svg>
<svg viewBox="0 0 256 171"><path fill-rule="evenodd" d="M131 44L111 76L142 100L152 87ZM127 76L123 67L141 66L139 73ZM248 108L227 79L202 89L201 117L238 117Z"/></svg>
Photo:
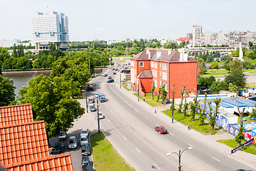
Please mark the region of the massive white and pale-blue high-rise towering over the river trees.
<svg viewBox="0 0 256 171"><path fill-rule="evenodd" d="M62 50L68 48L68 16L65 14L37 12L32 17L32 30L36 50L48 49L50 43Z"/></svg>

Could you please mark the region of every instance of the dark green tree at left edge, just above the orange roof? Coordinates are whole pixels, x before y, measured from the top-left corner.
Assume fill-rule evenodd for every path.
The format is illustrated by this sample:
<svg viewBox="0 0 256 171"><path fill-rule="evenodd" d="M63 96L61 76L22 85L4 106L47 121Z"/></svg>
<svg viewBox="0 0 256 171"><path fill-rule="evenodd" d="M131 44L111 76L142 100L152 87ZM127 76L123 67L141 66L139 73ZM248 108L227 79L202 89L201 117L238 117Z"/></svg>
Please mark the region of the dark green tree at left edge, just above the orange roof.
<svg viewBox="0 0 256 171"><path fill-rule="evenodd" d="M0 75L0 106L14 105L15 93L14 83L11 83L10 78L4 78Z"/></svg>

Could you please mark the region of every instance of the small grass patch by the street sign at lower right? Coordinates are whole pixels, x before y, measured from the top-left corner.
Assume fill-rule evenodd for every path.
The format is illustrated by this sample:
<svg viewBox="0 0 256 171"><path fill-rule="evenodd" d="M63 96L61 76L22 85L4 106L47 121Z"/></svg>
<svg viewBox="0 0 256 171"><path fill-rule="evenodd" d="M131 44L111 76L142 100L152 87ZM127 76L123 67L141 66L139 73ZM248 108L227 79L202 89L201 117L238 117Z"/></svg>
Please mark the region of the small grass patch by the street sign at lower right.
<svg viewBox="0 0 256 171"><path fill-rule="evenodd" d="M225 144L229 147L236 148L237 142L234 139L230 140L217 140L217 142L220 142L222 144ZM245 140L242 140L242 143L245 143ZM252 155L256 155L256 145L250 143L250 145L247 145L246 147L243 147L241 151L251 153Z"/></svg>

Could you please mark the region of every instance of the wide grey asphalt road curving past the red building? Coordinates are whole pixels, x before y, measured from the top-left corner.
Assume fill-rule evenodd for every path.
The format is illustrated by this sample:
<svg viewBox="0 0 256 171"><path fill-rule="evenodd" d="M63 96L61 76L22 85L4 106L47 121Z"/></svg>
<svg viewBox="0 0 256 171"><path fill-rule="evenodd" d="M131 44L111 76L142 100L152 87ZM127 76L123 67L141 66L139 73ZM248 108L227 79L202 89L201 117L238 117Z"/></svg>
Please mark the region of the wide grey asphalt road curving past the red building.
<svg viewBox="0 0 256 171"><path fill-rule="evenodd" d="M108 75L113 76L112 72L108 71ZM99 103L100 111L106 115L101 120L101 130L135 170L177 170L178 156L166 154L188 147L193 147L193 150L183 153L183 170L256 170L256 166L237 161L227 152L220 152L213 143L201 138L199 133L191 134L193 132L185 130L183 125L171 123L171 118L163 113L158 111L155 114L152 107L143 101L138 102L132 93L119 88L118 74L113 78L114 83L106 83L108 78L103 76L91 81L96 90L89 92L88 97L96 92L106 94L106 103ZM86 108L85 99L79 101ZM96 112L85 113L68 130L68 136L76 135L79 138L83 128L96 132L96 115ZM164 125L169 133L159 135L154 130L156 125ZM69 151L74 170L81 170L80 148Z"/></svg>

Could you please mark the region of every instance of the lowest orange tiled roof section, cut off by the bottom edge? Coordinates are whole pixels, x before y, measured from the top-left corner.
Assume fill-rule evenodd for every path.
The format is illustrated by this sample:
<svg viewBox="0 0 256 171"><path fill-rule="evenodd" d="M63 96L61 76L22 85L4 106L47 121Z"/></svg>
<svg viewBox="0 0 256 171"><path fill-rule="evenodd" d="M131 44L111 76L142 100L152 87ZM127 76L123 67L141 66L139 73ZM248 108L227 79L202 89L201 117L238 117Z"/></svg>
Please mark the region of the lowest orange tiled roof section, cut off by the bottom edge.
<svg viewBox="0 0 256 171"><path fill-rule="evenodd" d="M17 162L12 165L6 165L8 171L26 171L26 170L66 170L73 171L73 165L70 153L53 155L35 160Z"/></svg>

